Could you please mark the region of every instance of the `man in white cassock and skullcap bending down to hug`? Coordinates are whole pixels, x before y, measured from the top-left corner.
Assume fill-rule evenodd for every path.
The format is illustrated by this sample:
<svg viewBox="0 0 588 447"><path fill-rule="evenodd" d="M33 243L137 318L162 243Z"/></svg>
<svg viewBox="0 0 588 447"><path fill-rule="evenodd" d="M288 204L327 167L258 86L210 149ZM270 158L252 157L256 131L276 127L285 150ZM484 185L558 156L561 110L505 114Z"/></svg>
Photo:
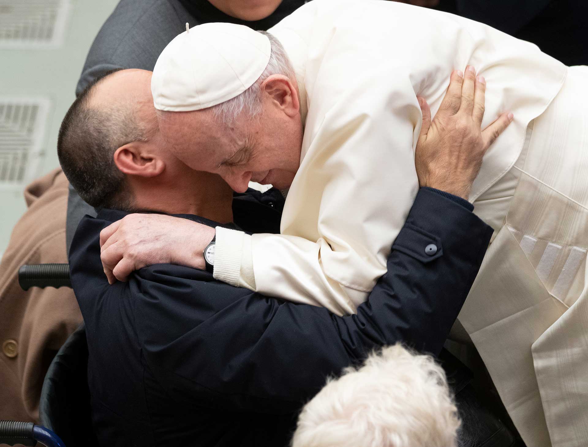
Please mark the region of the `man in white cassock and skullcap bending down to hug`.
<svg viewBox="0 0 588 447"><path fill-rule="evenodd" d="M471 65L488 84L483 126L515 119L469 192L495 235L459 320L527 445L585 445L588 68L450 14L315 0L269 34L188 29L159 57L152 93L193 169L236 191L289 187L280 235L216 229L215 278L353 313L419 186L417 95L434 114L445 74Z"/></svg>

